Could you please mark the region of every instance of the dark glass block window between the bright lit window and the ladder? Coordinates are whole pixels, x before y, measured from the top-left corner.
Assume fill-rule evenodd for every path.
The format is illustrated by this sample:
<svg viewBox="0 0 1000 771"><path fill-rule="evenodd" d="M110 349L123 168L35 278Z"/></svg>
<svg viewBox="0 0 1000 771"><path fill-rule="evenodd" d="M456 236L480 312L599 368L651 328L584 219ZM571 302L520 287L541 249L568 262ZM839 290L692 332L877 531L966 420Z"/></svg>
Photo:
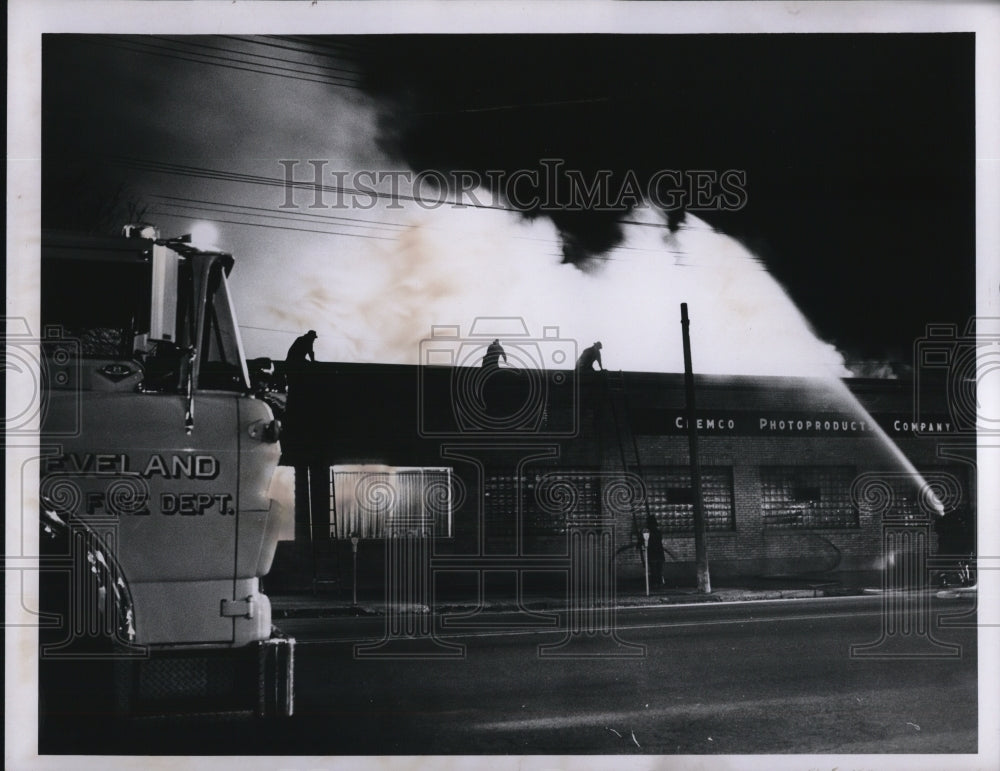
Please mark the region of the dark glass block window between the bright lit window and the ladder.
<svg viewBox="0 0 1000 771"><path fill-rule="evenodd" d="M525 537L559 535L567 514L599 513L600 495L599 478L585 470L531 469L520 477L490 470L483 486L486 532L513 536L520 501Z"/></svg>

